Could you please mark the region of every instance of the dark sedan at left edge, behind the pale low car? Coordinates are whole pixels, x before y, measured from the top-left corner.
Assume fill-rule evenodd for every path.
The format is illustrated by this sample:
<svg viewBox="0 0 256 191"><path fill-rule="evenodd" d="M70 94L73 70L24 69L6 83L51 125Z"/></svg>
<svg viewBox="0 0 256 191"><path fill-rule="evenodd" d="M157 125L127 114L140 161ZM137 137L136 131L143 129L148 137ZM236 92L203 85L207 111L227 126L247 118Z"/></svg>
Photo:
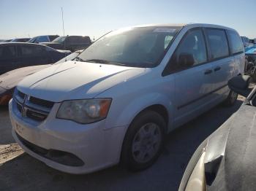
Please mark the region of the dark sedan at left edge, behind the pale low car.
<svg viewBox="0 0 256 191"><path fill-rule="evenodd" d="M26 42L0 43L0 74L25 66L55 63L70 51L54 50L42 44Z"/></svg>

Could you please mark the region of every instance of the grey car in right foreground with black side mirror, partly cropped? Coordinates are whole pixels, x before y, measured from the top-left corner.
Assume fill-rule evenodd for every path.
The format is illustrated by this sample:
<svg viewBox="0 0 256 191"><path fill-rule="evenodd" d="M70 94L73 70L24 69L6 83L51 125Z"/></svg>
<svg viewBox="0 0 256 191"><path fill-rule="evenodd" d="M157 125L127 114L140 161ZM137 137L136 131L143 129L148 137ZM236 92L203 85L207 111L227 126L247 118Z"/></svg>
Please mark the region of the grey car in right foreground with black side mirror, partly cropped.
<svg viewBox="0 0 256 191"><path fill-rule="evenodd" d="M246 100L197 148L184 172L179 191L255 190L256 86L252 90L248 85L249 76L230 80L230 89Z"/></svg>

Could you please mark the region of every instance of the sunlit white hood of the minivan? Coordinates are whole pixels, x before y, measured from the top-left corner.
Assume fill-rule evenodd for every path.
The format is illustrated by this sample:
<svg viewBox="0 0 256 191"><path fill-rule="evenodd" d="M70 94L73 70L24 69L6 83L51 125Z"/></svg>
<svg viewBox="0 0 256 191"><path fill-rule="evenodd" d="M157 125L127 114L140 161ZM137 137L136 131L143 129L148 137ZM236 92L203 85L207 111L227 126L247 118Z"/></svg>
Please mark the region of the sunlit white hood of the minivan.
<svg viewBox="0 0 256 191"><path fill-rule="evenodd" d="M145 70L67 61L26 77L18 84L18 90L54 102L94 98L110 87L142 74Z"/></svg>

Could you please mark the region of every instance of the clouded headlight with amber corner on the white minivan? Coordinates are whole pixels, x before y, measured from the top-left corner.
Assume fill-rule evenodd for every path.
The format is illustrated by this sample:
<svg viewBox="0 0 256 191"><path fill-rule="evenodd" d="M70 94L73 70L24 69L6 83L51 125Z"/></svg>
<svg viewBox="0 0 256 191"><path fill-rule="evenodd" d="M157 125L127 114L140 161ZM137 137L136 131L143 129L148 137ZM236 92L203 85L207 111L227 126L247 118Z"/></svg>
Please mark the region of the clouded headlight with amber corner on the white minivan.
<svg viewBox="0 0 256 191"><path fill-rule="evenodd" d="M107 117L111 101L111 98L64 101L56 117L84 124L97 122Z"/></svg>

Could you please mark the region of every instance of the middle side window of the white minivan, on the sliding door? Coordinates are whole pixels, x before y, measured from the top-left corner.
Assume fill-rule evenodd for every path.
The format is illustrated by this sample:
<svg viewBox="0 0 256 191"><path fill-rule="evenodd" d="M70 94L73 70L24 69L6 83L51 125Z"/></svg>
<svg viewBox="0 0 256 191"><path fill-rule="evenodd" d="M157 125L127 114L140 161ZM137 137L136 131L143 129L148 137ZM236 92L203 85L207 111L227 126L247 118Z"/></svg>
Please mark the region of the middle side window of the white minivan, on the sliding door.
<svg viewBox="0 0 256 191"><path fill-rule="evenodd" d="M224 30L206 28L206 36L208 38L212 60L229 55L227 37Z"/></svg>

